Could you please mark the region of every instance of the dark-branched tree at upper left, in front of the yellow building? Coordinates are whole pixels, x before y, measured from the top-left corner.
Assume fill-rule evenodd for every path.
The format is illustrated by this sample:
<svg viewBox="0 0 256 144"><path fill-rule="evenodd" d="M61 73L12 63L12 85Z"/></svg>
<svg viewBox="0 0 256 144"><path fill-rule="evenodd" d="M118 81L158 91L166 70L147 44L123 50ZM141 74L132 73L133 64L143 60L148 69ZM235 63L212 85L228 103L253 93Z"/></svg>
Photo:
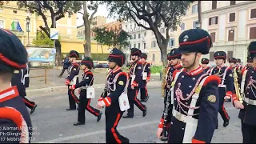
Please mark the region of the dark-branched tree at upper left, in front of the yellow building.
<svg viewBox="0 0 256 144"><path fill-rule="evenodd" d="M48 38L50 38L50 28L56 27L56 22L65 17L68 13L69 17L77 13L82 9L81 1L18 1L19 8L26 8L30 10L30 13L40 15L45 26L39 26L39 28L45 32ZM50 26L47 22L46 13L50 11ZM54 22L55 18L55 22ZM58 62L62 61L61 43L56 40L55 47L57 51Z"/></svg>

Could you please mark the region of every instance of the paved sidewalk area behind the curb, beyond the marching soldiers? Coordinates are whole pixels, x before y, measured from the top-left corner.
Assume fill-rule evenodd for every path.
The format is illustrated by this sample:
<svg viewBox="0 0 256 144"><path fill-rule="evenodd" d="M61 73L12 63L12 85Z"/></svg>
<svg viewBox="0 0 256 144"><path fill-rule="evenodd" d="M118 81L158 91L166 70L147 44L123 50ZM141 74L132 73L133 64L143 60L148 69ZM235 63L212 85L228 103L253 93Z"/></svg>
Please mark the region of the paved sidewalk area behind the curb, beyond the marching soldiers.
<svg viewBox="0 0 256 144"><path fill-rule="evenodd" d="M47 70L47 84L45 84L45 78L30 78L30 87L28 90L39 89L48 86L64 86L65 78L68 74L65 73L62 75L62 78L58 78L58 75L62 70ZM30 70L30 77L43 76L45 70ZM55 79L54 79L55 76ZM79 73L79 80L81 80L82 70ZM159 76L151 76L151 82L159 81ZM54 83L53 83L54 82ZM106 82L106 70L104 69L95 69L94 72L94 84L102 84Z"/></svg>

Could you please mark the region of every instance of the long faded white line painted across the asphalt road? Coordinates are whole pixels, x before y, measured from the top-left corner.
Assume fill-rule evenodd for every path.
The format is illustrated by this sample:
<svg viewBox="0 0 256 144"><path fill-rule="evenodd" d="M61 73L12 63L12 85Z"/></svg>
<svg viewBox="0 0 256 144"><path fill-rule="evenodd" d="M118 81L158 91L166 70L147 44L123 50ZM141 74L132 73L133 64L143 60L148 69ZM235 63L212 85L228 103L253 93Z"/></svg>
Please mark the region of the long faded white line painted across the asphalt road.
<svg viewBox="0 0 256 144"><path fill-rule="evenodd" d="M138 123L138 124L129 125L129 126L121 126L121 127L118 127L118 130L126 130L126 129L131 129L131 128L134 128L134 127L138 127L138 126L146 126L146 125L151 125L151 124L157 124L158 122L159 122L159 120L158 121L152 121L152 122L143 122L143 123ZM105 130L94 131L94 132L90 132L90 133L86 133L86 134L77 134L77 135L72 135L72 136L64 137L64 138L56 138L56 139L52 139L52 140L49 140L49 141L38 142L38 143L62 142L62 141L68 141L68 140L71 140L71 139L83 138L83 137L88 137L88 136L97 135L97 134L105 134Z"/></svg>

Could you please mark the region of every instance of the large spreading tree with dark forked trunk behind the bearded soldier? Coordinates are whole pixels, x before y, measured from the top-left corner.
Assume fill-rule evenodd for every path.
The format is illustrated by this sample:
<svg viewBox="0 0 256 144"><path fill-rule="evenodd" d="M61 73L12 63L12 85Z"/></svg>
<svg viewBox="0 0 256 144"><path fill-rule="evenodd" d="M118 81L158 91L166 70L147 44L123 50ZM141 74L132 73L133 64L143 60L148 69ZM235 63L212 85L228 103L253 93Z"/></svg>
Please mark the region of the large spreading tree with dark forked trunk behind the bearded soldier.
<svg viewBox="0 0 256 144"><path fill-rule="evenodd" d="M109 16L119 19L133 20L137 26L146 30L152 30L158 42L162 55L162 63L167 64L167 46L170 39L169 30L177 30L182 15L192 1L106 1ZM143 25L139 20L144 20L147 25ZM158 28L164 26L166 35L162 35Z"/></svg>

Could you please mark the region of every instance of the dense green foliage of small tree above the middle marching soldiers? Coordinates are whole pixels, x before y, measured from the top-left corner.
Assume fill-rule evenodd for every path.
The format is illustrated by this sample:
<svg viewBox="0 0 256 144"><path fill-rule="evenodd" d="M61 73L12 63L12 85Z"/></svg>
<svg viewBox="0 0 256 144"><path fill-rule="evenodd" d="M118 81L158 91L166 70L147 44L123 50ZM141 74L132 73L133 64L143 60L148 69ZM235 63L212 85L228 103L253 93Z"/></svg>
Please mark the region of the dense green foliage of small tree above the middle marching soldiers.
<svg viewBox="0 0 256 144"><path fill-rule="evenodd" d="M93 31L95 34L94 40L96 40L101 45L118 47L120 50L123 47L130 45L130 42L128 41L130 35L124 30L115 32L114 30L106 30L106 27L96 27L93 29Z"/></svg>

